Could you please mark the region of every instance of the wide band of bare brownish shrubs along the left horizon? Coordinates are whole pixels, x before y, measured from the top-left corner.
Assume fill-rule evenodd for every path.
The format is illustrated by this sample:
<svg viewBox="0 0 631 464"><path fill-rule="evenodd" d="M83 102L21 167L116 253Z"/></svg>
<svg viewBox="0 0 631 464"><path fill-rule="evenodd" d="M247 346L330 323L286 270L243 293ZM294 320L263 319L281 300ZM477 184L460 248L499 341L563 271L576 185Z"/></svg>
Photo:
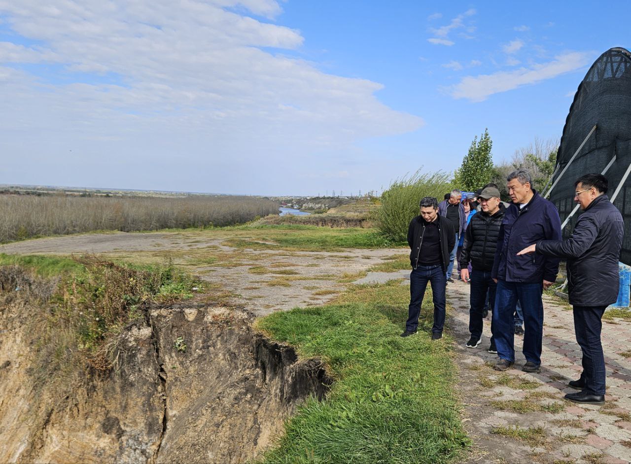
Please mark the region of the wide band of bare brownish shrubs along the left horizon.
<svg viewBox="0 0 631 464"><path fill-rule="evenodd" d="M0 195L0 242L90 230L225 226L278 213L278 203L247 196L78 197Z"/></svg>

